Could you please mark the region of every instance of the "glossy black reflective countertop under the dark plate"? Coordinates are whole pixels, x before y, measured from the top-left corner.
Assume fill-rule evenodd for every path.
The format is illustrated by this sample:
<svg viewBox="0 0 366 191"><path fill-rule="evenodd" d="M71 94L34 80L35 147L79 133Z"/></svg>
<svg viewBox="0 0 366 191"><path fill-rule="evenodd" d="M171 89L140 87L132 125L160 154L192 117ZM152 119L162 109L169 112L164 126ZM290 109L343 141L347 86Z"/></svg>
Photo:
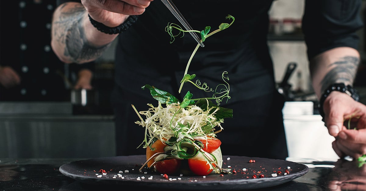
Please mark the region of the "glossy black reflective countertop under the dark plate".
<svg viewBox="0 0 366 191"><path fill-rule="evenodd" d="M0 159L0 190L89 191L131 189L113 185L88 185L59 172L61 165L78 160L84 159ZM366 165L360 167L356 160L303 158L288 158L287 160L309 166L309 172L287 183L261 188L260 190L366 190ZM140 187L135 186L133 189L138 188ZM141 187L141 189L144 188Z"/></svg>

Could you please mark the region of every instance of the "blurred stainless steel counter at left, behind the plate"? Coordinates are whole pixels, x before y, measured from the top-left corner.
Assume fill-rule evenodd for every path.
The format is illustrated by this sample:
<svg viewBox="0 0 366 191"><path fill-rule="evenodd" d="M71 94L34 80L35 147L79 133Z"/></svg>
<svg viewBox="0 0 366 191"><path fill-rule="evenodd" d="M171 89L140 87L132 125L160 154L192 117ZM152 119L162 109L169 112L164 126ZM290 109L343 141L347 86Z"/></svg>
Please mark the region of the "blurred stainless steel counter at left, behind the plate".
<svg viewBox="0 0 366 191"><path fill-rule="evenodd" d="M0 108L0 158L115 156L112 115L72 115L67 103L1 103Z"/></svg>

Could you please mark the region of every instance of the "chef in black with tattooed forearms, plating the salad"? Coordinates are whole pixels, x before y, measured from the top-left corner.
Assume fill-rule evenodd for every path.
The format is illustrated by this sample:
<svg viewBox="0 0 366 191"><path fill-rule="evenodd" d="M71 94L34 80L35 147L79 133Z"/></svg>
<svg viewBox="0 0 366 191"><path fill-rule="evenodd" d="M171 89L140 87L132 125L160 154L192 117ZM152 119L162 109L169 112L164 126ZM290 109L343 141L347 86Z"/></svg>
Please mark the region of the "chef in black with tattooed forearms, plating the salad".
<svg viewBox="0 0 366 191"><path fill-rule="evenodd" d="M272 60L267 46L268 11L272 1L173 1L194 30L218 29L227 15L232 26L210 36L199 48L188 74L209 86L223 83L228 72L230 96L220 106L233 109L217 134L224 155L285 159L283 97L275 88ZM212 94L185 85L178 95L187 61L197 42L190 35L171 37L168 23L179 24L161 1L82 0L59 1L52 21L52 48L65 63L95 60L117 39L113 106L116 117L117 154L143 154L136 149L144 130L131 108L145 111L157 104L141 86L153 85L180 100L189 90L193 98ZM303 32L308 48L314 90L329 134L337 137L333 148L339 156L366 153L366 106L359 103L352 83L360 62L356 31L361 0L306 1ZM355 114L359 130L346 130L343 121ZM343 136L342 136L343 135ZM310 138L309 138L310 139ZM362 149L363 148L363 149Z"/></svg>

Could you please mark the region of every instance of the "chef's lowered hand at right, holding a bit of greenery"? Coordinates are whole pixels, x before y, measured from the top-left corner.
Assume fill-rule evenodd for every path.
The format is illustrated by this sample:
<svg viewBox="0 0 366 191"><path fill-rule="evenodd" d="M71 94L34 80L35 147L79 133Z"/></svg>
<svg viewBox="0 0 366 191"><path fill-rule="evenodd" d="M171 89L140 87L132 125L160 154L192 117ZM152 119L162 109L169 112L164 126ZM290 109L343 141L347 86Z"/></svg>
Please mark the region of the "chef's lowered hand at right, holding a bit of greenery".
<svg viewBox="0 0 366 191"><path fill-rule="evenodd" d="M366 106L345 93L333 91L323 108L328 132L336 138L332 143L336 154L355 159L366 154Z"/></svg>

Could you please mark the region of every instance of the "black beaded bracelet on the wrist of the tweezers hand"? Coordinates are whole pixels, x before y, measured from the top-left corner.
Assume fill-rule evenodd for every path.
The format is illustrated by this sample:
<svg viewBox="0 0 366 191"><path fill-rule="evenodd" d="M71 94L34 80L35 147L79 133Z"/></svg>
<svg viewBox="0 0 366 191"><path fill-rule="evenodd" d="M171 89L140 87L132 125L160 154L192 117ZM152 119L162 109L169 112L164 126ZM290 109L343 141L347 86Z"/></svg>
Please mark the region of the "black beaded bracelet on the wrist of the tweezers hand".
<svg viewBox="0 0 366 191"><path fill-rule="evenodd" d="M128 16L127 20L124 21L122 24L116 26L116 27L108 27L105 26L103 23L100 23L94 19L92 19L89 16L89 20L91 22L91 24L96 27L99 31L106 33L106 34L119 34L122 33L123 31L126 31L128 29L128 27L130 27L132 24L134 24L137 21L138 15L130 15Z"/></svg>

